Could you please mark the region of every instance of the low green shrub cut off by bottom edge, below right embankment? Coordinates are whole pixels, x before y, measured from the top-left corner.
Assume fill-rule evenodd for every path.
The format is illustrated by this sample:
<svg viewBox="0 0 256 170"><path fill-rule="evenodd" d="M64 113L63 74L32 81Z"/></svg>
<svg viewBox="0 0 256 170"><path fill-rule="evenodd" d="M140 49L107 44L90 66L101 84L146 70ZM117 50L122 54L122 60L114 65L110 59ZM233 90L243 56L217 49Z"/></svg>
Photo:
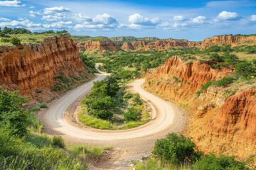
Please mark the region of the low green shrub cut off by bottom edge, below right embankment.
<svg viewBox="0 0 256 170"><path fill-rule="evenodd" d="M245 162L238 162L235 160L235 157L228 157L225 155L221 155L220 157L216 157L215 154L210 154L207 156L203 156L199 159L195 164L193 164L193 169L195 170L212 170L212 169L249 169Z"/></svg>

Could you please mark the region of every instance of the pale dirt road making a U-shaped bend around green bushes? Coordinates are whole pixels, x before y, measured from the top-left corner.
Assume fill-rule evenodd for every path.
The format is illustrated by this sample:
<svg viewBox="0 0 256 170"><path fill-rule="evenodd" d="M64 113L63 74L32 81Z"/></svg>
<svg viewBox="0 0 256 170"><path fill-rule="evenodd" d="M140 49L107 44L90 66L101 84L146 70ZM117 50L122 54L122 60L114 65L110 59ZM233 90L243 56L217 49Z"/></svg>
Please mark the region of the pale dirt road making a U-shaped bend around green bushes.
<svg viewBox="0 0 256 170"><path fill-rule="evenodd" d="M93 81L104 79L106 74L97 77L70 91L68 94L50 106L43 119L46 131L50 134L62 135L65 140L90 145L112 145L114 154L110 155L108 163L95 169L124 169L134 159L140 159L150 154L156 139L165 137L169 132L180 132L185 125L182 112L171 102L150 94L142 87L144 79L134 81L132 91L139 93L152 108L152 120L145 125L130 130L94 130L79 128L65 120L65 111L80 96L90 91ZM92 168L92 169L94 169Z"/></svg>

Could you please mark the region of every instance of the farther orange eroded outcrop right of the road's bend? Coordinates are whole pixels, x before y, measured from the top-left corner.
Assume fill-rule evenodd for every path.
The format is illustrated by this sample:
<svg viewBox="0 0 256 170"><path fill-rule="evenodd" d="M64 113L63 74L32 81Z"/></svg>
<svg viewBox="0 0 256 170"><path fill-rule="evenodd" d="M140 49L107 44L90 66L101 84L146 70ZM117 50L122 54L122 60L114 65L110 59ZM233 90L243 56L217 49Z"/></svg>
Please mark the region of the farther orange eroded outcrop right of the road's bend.
<svg viewBox="0 0 256 170"><path fill-rule="evenodd" d="M167 59L166 63L155 72L146 73L146 86L147 89L161 92L163 98L183 101L183 98L195 96L194 92L198 91L202 84L228 74L229 72L213 69L207 62L199 60L183 62L181 57L174 56Z"/></svg>

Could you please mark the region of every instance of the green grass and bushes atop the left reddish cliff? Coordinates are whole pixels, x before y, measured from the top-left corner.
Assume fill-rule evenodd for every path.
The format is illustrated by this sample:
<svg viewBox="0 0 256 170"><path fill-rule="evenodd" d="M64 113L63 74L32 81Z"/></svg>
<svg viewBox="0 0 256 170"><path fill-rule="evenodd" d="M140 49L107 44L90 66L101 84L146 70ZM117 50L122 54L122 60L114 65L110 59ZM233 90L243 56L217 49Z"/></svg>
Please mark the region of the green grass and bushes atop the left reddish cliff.
<svg viewBox="0 0 256 170"><path fill-rule="evenodd" d="M30 30L24 28L0 28L0 46L3 45L21 45L21 42L24 43L38 43L43 42L45 38L54 37L57 35L68 35L67 30L55 31L47 30L42 33L31 33Z"/></svg>

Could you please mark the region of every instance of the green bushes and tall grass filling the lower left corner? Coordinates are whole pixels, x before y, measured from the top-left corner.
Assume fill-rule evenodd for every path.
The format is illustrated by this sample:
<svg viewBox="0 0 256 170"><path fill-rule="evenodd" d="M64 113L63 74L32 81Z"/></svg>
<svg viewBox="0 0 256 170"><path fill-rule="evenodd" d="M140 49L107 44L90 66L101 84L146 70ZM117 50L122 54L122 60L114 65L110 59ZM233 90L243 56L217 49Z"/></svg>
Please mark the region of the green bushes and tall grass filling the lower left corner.
<svg viewBox="0 0 256 170"><path fill-rule="evenodd" d="M0 169L89 169L88 158L110 149L71 146L62 137L41 134L43 124L23 107L26 102L18 91L0 88Z"/></svg>

